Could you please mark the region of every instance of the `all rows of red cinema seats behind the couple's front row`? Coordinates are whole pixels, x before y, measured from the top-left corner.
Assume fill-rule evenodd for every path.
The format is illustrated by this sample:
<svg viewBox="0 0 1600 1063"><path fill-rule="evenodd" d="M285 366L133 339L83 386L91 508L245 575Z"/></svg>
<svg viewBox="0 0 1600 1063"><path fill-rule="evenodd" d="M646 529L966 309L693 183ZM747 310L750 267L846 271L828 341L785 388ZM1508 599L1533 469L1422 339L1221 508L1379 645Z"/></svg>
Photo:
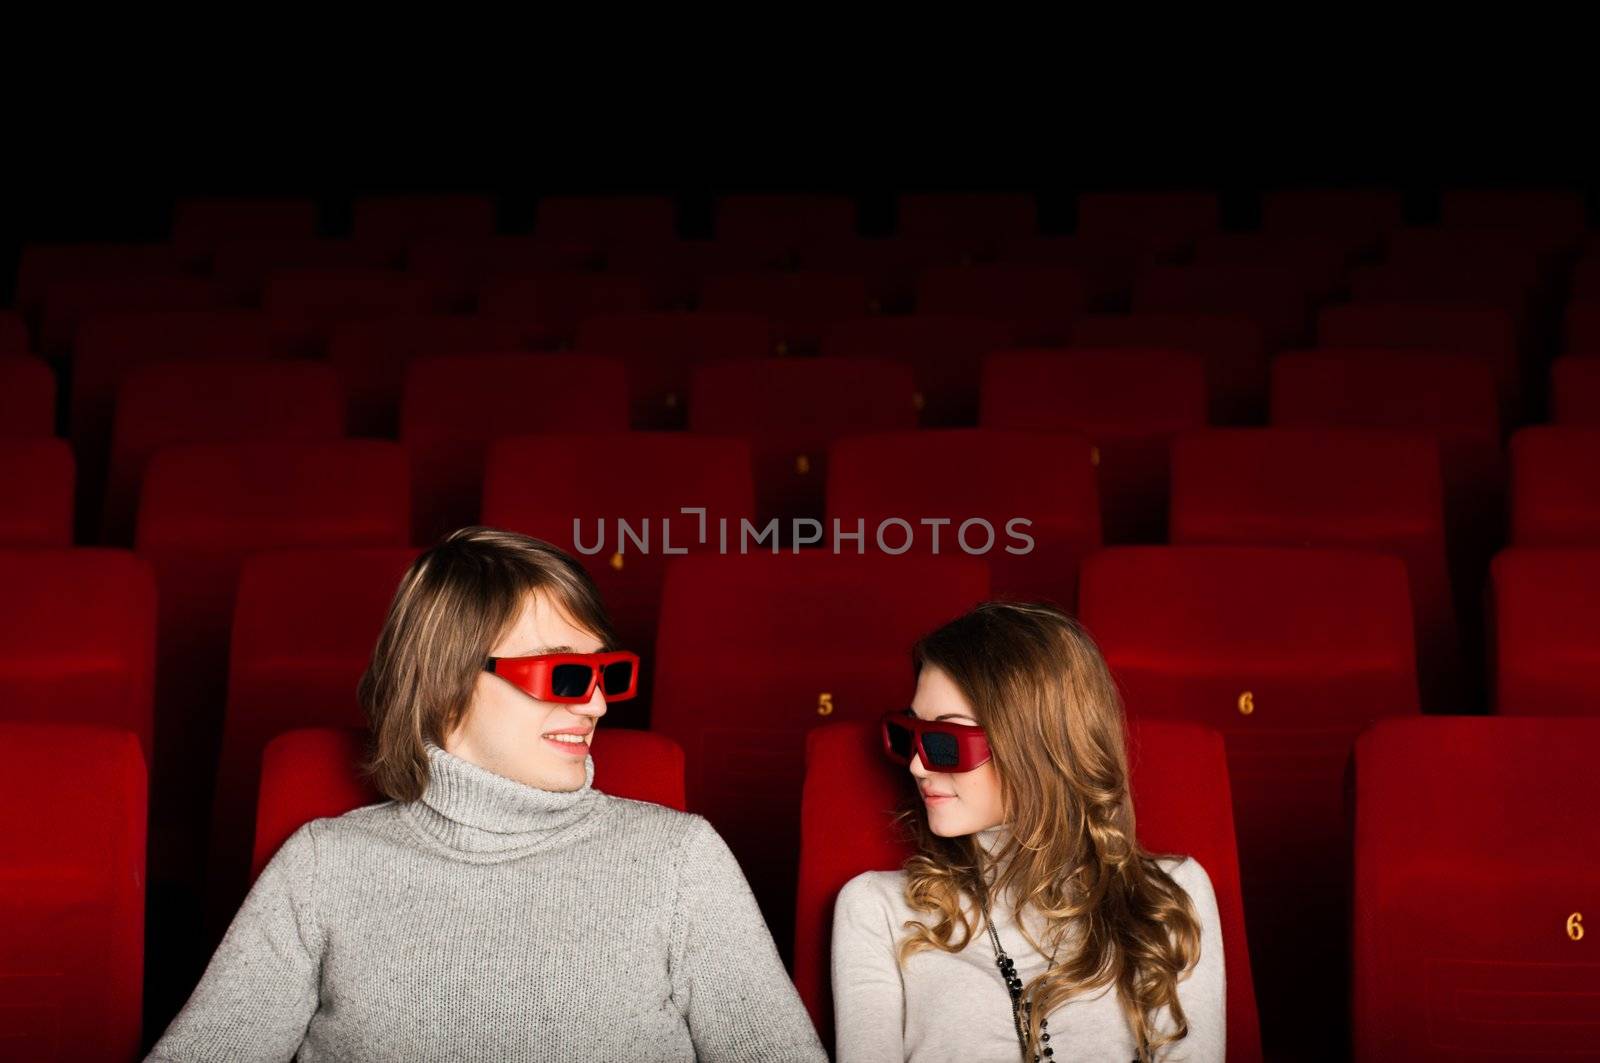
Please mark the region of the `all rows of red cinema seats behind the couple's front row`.
<svg viewBox="0 0 1600 1063"><path fill-rule="evenodd" d="M1600 423L1600 258L1576 205L1456 195L1414 227L1392 194L1293 194L1222 232L1206 197L1112 197L1042 235L1026 199L907 200L901 235L864 239L790 199L678 240L650 200L546 202L531 237L390 203L368 216L410 221L357 211L326 240L314 211L211 203L166 245L30 248L0 312L0 432L34 439L0 461L30 469L6 469L34 487L5 504L46 532L8 543L32 548L0 621L29 648L8 714L142 736L150 872L176 890L152 940L202 895L214 940L262 748L360 722L418 546L482 520L571 548L573 517L677 515L694 548L685 504L712 536L861 519L866 557L667 557L659 528L643 551L614 525L587 557L653 679L611 724L682 743L690 807L786 957L805 733L902 701L906 647L973 600L1054 597L1144 674L1136 719L1224 735L1262 1026L1296 1045L1342 1025L1338 765L1358 728L1592 711L1592 562L1550 549L1597 527L1574 471ZM1014 515L1030 556L1005 552ZM886 517L917 525L914 556L877 549ZM942 557L923 517L952 519ZM982 557L955 549L968 517L998 532ZM42 560L69 554L77 575ZM90 668L86 629L123 664ZM851 631L882 642L830 640ZM707 717L693 661L725 645L752 664ZM744 756L707 762L707 741ZM787 826L758 829L763 808ZM1304 887L1301 864L1325 874Z"/></svg>

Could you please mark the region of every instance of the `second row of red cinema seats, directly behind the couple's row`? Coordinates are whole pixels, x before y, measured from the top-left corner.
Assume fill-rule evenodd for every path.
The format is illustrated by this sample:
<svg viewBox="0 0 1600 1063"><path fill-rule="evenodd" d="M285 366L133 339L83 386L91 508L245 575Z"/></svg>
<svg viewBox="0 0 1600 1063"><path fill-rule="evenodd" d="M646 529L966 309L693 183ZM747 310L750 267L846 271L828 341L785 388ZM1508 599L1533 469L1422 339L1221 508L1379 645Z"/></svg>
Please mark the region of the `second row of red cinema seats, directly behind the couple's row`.
<svg viewBox="0 0 1600 1063"><path fill-rule="evenodd" d="M157 728L157 773L205 778L202 760L219 764L214 799L194 781L187 791L210 813L200 829L211 842L213 941L243 895L262 751L288 730L362 724L355 679L413 556L403 546L306 548L243 560L232 647L222 650L226 695L214 703L219 751L163 748ZM149 756L154 575L125 551L0 552L0 578L18 591L5 615L8 716L120 727ZM1374 720L1419 716L1408 583L1392 556L1334 548L1123 546L1082 564L1075 612L1130 716L1222 735L1251 964L1267 972L1264 1013L1318 1029L1341 1015L1350 744ZM910 642L990 594L982 557L805 551L666 562L646 658L650 725L685 751L688 807L728 837L786 956L808 733L904 703ZM1584 664L1600 639L1595 602L1600 549L1496 557L1502 716L1592 712ZM867 644L861 632L872 632ZM611 730L643 733L616 720Z"/></svg>

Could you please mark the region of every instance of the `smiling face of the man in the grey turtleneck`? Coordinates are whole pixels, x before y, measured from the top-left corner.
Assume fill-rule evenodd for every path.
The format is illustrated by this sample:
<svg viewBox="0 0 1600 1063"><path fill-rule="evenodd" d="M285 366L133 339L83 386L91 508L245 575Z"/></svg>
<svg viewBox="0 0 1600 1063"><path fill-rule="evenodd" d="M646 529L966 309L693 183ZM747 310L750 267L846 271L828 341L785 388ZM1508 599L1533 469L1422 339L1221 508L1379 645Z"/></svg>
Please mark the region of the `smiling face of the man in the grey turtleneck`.
<svg viewBox="0 0 1600 1063"><path fill-rule="evenodd" d="M549 596L536 592L490 655L598 653L600 648L598 637L576 626ZM598 684L589 701L568 704L539 701L493 672L478 672L472 704L461 725L445 736L443 748L518 783L571 791L584 784L584 757L605 709ZM558 733L582 741L563 744L550 738Z"/></svg>

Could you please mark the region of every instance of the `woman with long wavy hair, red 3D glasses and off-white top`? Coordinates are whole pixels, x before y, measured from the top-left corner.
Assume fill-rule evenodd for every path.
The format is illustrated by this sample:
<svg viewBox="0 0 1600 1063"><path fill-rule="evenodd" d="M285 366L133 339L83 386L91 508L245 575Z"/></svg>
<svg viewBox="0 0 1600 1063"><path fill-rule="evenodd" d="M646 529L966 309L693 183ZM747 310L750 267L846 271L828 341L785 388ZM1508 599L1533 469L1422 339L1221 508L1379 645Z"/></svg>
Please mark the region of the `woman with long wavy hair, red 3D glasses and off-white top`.
<svg viewBox="0 0 1600 1063"><path fill-rule="evenodd" d="M838 1063L1222 1060L1211 880L1138 842L1122 701L1090 636L987 602L912 661L912 704L883 728L920 792L917 852L838 895Z"/></svg>

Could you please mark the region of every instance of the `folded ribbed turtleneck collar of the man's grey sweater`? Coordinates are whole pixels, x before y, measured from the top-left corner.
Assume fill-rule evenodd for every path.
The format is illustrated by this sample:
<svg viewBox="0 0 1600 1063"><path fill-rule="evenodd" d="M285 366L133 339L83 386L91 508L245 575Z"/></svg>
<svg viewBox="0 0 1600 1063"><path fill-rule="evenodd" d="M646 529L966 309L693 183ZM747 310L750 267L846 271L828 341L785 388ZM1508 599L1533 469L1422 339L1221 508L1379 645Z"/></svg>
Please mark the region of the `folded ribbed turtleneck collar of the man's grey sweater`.
<svg viewBox="0 0 1600 1063"><path fill-rule="evenodd" d="M594 780L594 754L584 757L582 786L554 791L496 775L429 741L427 789L405 805L405 813L462 860L493 863L565 839L600 797Z"/></svg>

